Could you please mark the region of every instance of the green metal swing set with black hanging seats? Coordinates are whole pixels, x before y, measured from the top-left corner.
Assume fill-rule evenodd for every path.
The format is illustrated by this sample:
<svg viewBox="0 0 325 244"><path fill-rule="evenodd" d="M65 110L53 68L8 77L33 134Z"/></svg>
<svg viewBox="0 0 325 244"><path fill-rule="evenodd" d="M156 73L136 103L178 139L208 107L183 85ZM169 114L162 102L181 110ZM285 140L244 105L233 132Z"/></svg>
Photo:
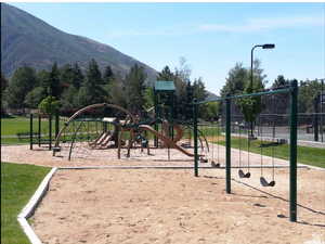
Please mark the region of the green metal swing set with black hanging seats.
<svg viewBox="0 0 325 244"><path fill-rule="evenodd" d="M239 137L238 140L238 149L239 149L239 162L238 167L232 166L231 162L231 143L232 143L232 137L231 137L231 111L232 111L232 101L236 101L238 99L244 98L262 98L265 95L273 95L272 99L272 110L275 108L275 102L274 102L274 95L275 94L288 94L290 98L290 114L289 114L289 129L290 129L290 139L289 139L289 150L290 150L290 156L289 156L289 192L290 192L290 200L289 200L289 213L290 213L290 221L296 222L297 221L297 95L298 95L298 85L297 80L294 80L288 88L278 89L278 90L270 90L270 91L262 91L262 92L256 92L256 93L249 93L249 94L242 94L242 95L227 95L225 98L219 98L214 100L208 100L203 102L197 102L194 100L193 104L193 134L194 134L194 176L198 177L198 107L202 104L208 103L208 102L224 102L225 103L225 115L224 115L224 121L225 121L225 191L227 194L231 194L231 169L232 168L238 168L238 177L243 179L248 179L251 176L250 168L260 168L260 183L262 187L275 187L275 166L274 165L274 145L275 143L275 119L273 119L273 130L272 130L272 138L271 138L271 157L272 157L272 178L270 180L266 179L264 174L264 168L268 166L264 165L264 157L263 157L263 147L264 147L264 140L263 137L263 119L260 116L259 117L259 131L260 131L260 166L251 166L250 165L250 151L251 151L251 141L256 140L257 138L252 138L249 134L249 129L247 128L247 166L244 166L243 164L243 143L242 138L246 137L243 132L243 125L239 124L238 126L238 134L236 137ZM218 134L220 134L220 123L218 123L217 126ZM243 136L243 137L242 137ZM218 137L219 139L219 137ZM214 141L213 141L214 142ZM219 145L219 140L217 141ZM214 155L213 155L213 147L212 147L212 160L211 166L220 165L220 158L219 158L219 146L218 146L218 162L214 162ZM244 171L244 168L247 168L247 171ZM268 167L270 168L270 167Z"/></svg>

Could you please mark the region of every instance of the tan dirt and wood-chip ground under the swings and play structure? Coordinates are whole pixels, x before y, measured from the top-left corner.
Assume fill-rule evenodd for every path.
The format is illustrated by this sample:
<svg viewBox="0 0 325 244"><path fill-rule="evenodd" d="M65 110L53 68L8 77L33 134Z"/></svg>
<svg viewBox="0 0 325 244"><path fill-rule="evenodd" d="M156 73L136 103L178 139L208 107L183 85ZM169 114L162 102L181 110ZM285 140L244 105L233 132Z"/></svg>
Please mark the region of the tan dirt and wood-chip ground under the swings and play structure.
<svg viewBox="0 0 325 244"><path fill-rule="evenodd" d="M224 150L219 147L223 165ZM46 166L179 165L193 159L171 150L147 156L135 152L130 159L116 159L116 152L95 160L52 157L49 151L28 146L2 146L3 162ZM211 153L211 152L210 152ZM217 159L217 149L213 157ZM247 154L240 154L242 164ZM252 165L260 155L250 154ZM233 165L239 153L232 150ZM272 159L263 157L263 164ZM287 165L275 160L276 165ZM209 164L200 164L209 166ZM289 217L289 172L275 169L274 188L262 188L260 169L239 179L232 169L232 194L226 194L224 169L61 169L31 218L32 228L46 244L133 243L325 243L325 171L298 169L298 222ZM263 169L271 179L272 169Z"/></svg>

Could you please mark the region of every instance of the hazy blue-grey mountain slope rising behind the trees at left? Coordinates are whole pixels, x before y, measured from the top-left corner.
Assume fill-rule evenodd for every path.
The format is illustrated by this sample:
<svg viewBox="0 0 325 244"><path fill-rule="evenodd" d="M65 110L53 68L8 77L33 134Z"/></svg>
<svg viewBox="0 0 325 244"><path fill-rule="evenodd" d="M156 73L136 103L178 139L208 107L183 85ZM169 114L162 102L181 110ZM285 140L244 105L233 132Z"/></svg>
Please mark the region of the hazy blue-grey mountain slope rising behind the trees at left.
<svg viewBox="0 0 325 244"><path fill-rule="evenodd" d="M108 44L64 33L25 11L1 3L1 70L5 77L20 66L49 69L53 62L58 66L78 62L86 68L91 59L101 68L110 65L115 73L122 75L139 64L150 80L156 78L155 69Z"/></svg>

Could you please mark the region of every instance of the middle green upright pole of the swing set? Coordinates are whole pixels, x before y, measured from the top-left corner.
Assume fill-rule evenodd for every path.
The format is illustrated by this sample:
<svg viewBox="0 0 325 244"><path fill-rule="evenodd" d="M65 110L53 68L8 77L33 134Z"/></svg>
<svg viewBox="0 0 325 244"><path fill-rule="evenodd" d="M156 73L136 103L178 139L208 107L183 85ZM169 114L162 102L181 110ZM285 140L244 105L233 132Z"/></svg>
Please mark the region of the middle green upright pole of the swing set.
<svg viewBox="0 0 325 244"><path fill-rule="evenodd" d="M227 95L230 97L230 95ZM231 193L231 100L225 100L225 192Z"/></svg>

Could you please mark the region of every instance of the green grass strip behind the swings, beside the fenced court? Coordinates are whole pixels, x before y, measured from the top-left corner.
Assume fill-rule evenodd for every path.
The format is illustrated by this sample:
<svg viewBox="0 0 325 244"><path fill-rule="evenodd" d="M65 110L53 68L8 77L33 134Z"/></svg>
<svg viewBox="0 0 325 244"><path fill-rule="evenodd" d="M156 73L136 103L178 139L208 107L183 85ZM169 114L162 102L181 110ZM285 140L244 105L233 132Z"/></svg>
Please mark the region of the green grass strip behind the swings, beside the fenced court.
<svg viewBox="0 0 325 244"><path fill-rule="evenodd" d="M219 141L220 144L225 145L224 141ZM263 142L263 144L266 144L268 142ZM242 150L247 151L247 139L242 138L240 139ZM260 147L261 141L253 140L250 143L250 152L261 154L261 147ZM239 149L239 139L238 138L232 138L231 146L234 149ZM275 145L274 147L274 157L282 158L282 159L289 159L289 145L288 144L282 144L282 145ZM315 149L315 147L309 147L309 146L300 146L298 145L298 163L317 166L325 168L325 150L324 149ZM262 154L266 156L272 156L272 146L263 147Z"/></svg>

